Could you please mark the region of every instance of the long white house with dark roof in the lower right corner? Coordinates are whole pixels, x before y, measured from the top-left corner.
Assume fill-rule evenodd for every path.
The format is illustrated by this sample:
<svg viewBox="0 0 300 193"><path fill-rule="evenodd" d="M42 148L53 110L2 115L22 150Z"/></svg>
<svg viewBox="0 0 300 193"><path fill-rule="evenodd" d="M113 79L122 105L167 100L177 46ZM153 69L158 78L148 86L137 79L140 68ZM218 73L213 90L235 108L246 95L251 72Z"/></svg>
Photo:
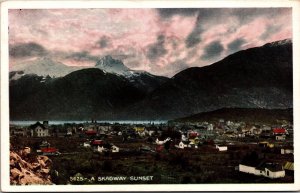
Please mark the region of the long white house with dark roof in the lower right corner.
<svg viewBox="0 0 300 193"><path fill-rule="evenodd" d="M285 176L285 171L282 165L277 163L262 162L257 167L240 164L239 171L257 176L265 176L267 178L282 178Z"/></svg>

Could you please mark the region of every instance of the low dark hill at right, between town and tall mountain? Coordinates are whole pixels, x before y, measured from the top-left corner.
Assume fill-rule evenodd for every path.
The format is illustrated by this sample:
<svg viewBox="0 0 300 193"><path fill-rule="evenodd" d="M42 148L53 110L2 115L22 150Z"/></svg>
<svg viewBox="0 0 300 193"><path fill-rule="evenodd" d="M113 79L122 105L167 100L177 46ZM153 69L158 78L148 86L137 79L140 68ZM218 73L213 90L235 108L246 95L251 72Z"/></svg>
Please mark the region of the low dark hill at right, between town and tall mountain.
<svg viewBox="0 0 300 193"><path fill-rule="evenodd" d="M220 119L245 123L278 124L283 120L293 123L293 109L223 108L175 119L175 122L218 122Z"/></svg>

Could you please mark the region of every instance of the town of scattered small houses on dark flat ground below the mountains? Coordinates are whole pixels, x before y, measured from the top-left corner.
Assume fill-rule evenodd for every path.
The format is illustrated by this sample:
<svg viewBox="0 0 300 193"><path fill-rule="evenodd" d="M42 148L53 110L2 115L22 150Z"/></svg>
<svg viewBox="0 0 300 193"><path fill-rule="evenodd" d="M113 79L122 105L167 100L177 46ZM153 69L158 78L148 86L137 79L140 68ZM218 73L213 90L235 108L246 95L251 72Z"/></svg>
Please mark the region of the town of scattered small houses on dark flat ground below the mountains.
<svg viewBox="0 0 300 193"><path fill-rule="evenodd" d="M48 156L54 184L99 176L152 176L137 183L292 183L293 125L215 122L10 125L11 150ZM74 180L81 179L81 180ZM129 179L129 178L128 178ZM12 184L16 180L12 180Z"/></svg>

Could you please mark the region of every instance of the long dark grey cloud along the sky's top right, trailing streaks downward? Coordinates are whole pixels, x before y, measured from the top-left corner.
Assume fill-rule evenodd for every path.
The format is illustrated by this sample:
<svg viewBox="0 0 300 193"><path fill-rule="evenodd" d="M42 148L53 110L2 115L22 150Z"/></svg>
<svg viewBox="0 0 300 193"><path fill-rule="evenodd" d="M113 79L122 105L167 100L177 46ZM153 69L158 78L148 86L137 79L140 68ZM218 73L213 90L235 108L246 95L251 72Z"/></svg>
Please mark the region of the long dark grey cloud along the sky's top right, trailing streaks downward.
<svg viewBox="0 0 300 193"><path fill-rule="evenodd" d="M172 15L193 16L197 15L194 29L187 36L185 44L187 48L194 47L201 42L201 35L212 26L224 23L226 18L235 17L239 25L246 25L260 17L276 18L280 14L288 14L290 8L199 8L199 9L168 9L160 11L160 15L171 17ZM262 34L261 39L278 32L281 27L270 26ZM234 33L237 29L231 28L228 33Z"/></svg>

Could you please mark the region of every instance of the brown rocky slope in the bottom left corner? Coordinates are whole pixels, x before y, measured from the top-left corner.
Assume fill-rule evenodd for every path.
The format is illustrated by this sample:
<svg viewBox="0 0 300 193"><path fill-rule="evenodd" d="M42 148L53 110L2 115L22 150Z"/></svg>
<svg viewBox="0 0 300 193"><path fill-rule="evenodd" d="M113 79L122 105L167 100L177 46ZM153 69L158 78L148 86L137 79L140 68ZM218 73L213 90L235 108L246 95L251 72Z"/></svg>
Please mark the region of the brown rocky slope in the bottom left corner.
<svg viewBox="0 0 300 193"><path fill-rule="evenodd" d="M51 164L47 156L32 156L29 148L10 151L10 184L52 184L49 174Z"/></svg>

